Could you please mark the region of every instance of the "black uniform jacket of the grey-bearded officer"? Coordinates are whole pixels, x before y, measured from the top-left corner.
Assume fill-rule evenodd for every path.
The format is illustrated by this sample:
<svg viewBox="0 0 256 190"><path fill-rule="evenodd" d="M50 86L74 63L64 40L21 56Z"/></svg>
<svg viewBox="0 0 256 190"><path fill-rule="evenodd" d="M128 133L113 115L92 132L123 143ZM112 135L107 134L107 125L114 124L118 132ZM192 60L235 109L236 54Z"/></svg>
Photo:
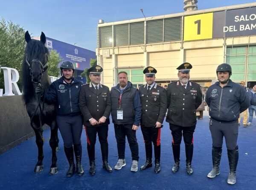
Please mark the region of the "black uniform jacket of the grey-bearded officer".
<svg viewBox="0 0 256 190"><path fill-rule="evenodd" d="M196 109L202 102L202 92L197 83L189 81L184 91L180 81L168 84L166 121L170 124L192 127L196 124Z"/></svg>

